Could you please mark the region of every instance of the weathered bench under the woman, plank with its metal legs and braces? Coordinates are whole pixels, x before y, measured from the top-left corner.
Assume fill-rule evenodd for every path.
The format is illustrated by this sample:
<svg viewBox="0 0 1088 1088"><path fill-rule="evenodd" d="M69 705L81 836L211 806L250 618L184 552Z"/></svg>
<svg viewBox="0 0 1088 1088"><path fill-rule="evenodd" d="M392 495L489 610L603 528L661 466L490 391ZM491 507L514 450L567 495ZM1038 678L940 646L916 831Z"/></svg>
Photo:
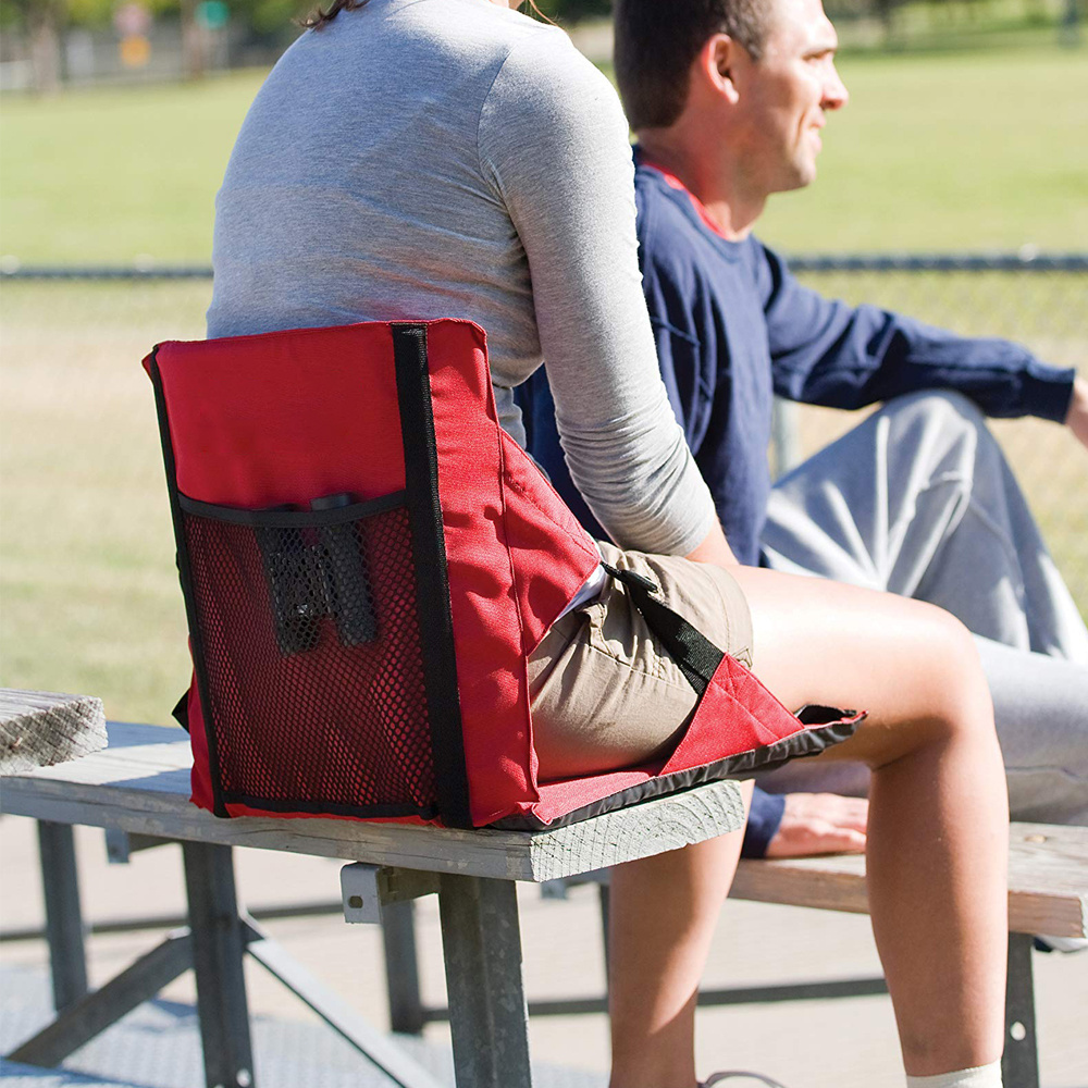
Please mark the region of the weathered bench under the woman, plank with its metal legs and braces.
<svg viewBox="0 0 1088 1088"><path fill-rule="evenodd" d="M58 1016L10 1055L52 1066L194 968L208 1088L255 1088L244 954L285 982L403 1088L437 1088L240 914L232 848L343 858L348 920L437 892L458 1088L530 1088L528 1018L515 881L542 882L645 857L738 829L732 782L540 832L452 830L337 819L218 819L188 801L188 738L111 722L109 746L3 780L0 811L38 820ZM88 992L74 825L126 832L131 849L180 842L189 925ZM378 981L378 980L375 980Z"/></svg>

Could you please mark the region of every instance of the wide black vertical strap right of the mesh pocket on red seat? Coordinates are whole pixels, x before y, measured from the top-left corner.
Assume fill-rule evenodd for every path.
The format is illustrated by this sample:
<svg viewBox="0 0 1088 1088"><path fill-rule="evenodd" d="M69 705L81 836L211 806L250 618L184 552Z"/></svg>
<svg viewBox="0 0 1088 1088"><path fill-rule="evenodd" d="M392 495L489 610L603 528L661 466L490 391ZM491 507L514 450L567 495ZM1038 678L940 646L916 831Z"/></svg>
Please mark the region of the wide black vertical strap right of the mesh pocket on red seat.
<svg viewBox="0 0 1088 1088"><path fill-rule="evenodd" d="M471 827L446 541L438 502L438 450L426 364L426 325L395 322L393 357L438 808L443 823L450 827Z"/></svg>

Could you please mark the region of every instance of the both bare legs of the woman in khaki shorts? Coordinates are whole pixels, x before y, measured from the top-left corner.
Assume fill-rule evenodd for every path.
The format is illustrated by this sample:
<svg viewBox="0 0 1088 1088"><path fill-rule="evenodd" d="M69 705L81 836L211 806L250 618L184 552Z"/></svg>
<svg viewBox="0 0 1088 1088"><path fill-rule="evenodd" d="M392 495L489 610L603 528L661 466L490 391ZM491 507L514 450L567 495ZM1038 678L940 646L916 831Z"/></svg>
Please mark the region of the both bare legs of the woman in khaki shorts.
<svg viewBox="0 0 1088 1088"><path fill-rule="evenodd" d="M873 770L870 910L906 1071L925 1076L994 1061L1007 806L969 635L918 602L766 570L732 572L751 604L755 670L768 688L788 706L869 710L852 740L820 758L857 759ZM694 994L735 866L734 839L614 876L613 1088L694 1083Z"/></svg>

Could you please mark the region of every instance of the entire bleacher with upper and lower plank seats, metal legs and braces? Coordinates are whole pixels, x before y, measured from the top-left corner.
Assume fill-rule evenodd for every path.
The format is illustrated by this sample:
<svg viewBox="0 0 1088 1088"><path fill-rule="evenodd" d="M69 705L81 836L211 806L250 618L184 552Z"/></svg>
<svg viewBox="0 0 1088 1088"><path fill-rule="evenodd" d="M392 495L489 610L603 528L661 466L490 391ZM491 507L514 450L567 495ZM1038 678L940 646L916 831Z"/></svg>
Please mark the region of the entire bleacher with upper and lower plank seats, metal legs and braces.
<svg viewBox="0 0 1088 1088"><path fill-rule="evenodd" d="M195 966L209 1088L246 1088L252 1065L240 970L245 952L299 993L395 1083L432 1088L434 1081L428 1074L290 962L251 918L239 915L231 848L246 845L357 863L342 870L343 910L348 920L378 920L384 914L387 961L396 963L400 957L404 968L399 978L390 979L394 1028L419 1030L426 1021L448 1017L459 1086L522 1088L531 1084L531 1074L514 881L594 879L609 865L710 838L739 825L732 783L702 787L539 833L323 819L220 820L187 800L188 740L181 731L111 724L109 732L106 751L5 778L0 793L0 811L39 821L44 871L49 874L47 934L54 996L58 1009L63 1010L53 1025L13 1052L15 1060L60 1062ZM188 930L171 935L113 982L90 994L71 833L77 824L124 832L134 850L181 842L190 907ZM607 886L602 885L602 890L606 894ZM411 901L430 892L437 892L441 901L450 996L450 1007L443 1010L424 1009L418 987L412 989ZM732 894L866 913L864 858L742 862ZM1009 906L1005 1085L1038 1088L1033 936L1088 936L1088 828L1014 824ZM791 982L706 992L701 1003L882 990L882 979ZM529 1012L598 1012L604 1007L604 998L558 1000L530 1005ZM495 1010L507 1012L496 1016Z"/></svg>

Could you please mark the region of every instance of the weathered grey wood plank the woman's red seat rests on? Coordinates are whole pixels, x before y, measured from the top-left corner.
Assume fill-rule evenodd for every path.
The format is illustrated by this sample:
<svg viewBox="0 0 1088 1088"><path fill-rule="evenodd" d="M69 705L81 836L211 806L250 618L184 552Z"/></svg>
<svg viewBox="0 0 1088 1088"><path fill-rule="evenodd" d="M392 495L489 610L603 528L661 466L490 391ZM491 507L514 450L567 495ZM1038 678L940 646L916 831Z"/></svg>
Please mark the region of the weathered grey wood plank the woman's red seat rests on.
<svg viewBox="0 0 1088 1088"><path fill-rule="evenodd" d="M532 881L712 838L740 827L743 812L737 786L716 782L536 833L330 819L223 820L189 804L188 767L188 739L180 730L111 722L109 749L8 779L0 808L171 839Z"/></svg>

